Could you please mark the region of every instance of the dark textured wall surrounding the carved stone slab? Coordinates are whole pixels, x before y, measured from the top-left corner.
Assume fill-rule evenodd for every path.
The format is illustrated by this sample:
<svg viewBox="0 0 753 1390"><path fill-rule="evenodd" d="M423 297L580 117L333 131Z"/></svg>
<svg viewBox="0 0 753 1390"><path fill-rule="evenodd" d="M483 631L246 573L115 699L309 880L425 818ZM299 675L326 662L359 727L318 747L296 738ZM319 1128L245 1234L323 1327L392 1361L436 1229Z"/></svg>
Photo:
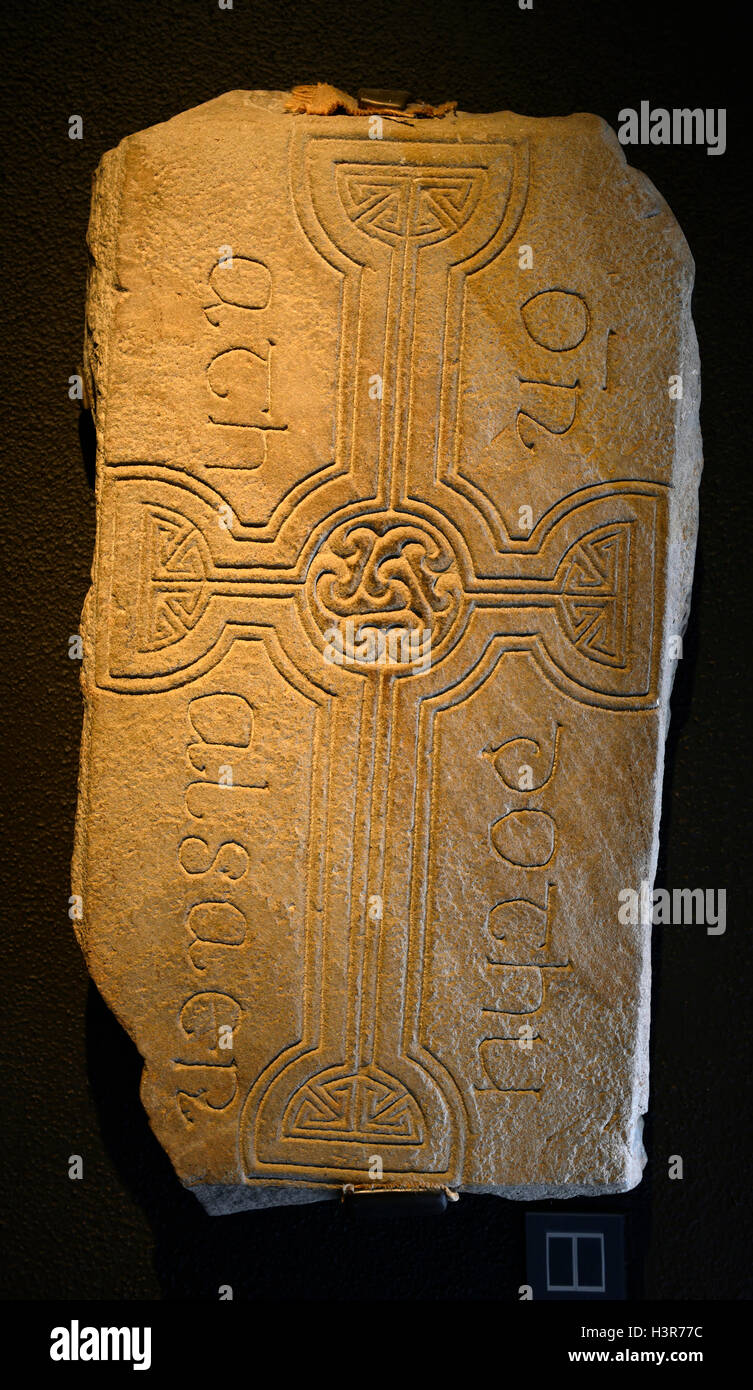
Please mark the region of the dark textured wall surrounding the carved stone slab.
<svg viewBox="0 0 753 1390"><path fill-rule="evenodd" d="M225 90L303 81L408 88L471 111L596 111L611 125L643 99L728 111L721 157L627 152L695 254L703 368L700 549L657 883L725 888L728 927L656 930L649 1163L634 1193L574 1208L627 1215L631 1298L750 1297L749 110L732 88L746 42L732 13L615 0L6 6L7 1297L214 1300L229 1283L236 1298L514 1300L525 1280L525 1208L493 1197L376 1225L338 1204L204 1216L149 1130L139 1056L88 983L67 916L82 720L67 653L94 538L68 378L81 364L90 177L125 135ZM71 114L83 140L68 138ZM83 1156L82 1182L68 1179L69 1154ZM672 1154L682 1182L668 1179Z"/></svg>

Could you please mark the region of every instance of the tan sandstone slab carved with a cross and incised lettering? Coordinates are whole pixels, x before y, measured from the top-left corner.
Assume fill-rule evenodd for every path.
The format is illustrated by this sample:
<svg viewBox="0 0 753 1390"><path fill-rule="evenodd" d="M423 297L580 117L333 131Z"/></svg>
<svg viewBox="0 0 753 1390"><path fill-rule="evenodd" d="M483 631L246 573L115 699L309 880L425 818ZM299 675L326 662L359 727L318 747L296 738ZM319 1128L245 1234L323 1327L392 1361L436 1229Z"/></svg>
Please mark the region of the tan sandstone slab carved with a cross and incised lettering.
<svg viewBox="0 0 753 1390"><path fill-rule="evenodd" d="M621 1191L690 254L593 115L285 107L96 175L81 945L213 1211Z"/></svg>

